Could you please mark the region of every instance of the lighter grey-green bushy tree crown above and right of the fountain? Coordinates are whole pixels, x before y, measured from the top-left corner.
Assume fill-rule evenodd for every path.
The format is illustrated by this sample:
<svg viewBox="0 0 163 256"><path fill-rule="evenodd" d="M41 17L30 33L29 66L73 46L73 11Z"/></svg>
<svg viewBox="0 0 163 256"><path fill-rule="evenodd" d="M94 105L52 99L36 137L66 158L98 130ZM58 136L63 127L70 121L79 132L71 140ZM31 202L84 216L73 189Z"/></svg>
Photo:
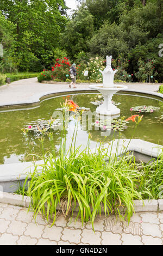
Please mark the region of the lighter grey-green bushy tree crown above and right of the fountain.
<svg viewBox="0 0 163 256"><path fill-rule="evenodd" d="M149 38L159 33L159 19L156 16L154 4L146 7L134 7L124 11L120 17L120 24L105 22L90 40L92 54L112 54L117 58L119 54L127 57L128 52L136 45L146 44Z"/></svg>

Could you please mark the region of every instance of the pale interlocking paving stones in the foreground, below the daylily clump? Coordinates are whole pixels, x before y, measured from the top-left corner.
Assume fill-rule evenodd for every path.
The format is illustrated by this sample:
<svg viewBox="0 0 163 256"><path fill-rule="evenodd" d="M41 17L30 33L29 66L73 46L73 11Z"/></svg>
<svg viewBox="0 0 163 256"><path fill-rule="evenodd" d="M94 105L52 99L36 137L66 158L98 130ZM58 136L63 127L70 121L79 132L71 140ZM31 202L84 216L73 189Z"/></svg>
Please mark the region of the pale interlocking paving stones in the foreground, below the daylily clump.
<svg viewBox="0 0 163 256"><path fill-rule="evenodd" d="M163 212L139 212L127 221L98 217L90 223L58 216L50 227L33 212L0 203L0 245L162 245Z"/></svg>

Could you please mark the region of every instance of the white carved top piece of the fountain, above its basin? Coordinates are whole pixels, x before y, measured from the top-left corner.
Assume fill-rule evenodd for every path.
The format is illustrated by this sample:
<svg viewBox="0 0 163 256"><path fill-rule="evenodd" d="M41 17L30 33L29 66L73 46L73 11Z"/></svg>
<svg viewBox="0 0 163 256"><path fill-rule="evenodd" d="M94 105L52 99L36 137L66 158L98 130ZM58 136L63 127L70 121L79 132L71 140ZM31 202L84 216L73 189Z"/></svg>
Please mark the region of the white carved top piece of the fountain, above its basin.
<svg viewBox="0 0 163 256"><path fill-rule="evenodd" d="M111 60L112 56L106 56L106 68L104 71L99 70L103 75L103 87L114 87L114 75L118 70L112 70Z"/></svg>

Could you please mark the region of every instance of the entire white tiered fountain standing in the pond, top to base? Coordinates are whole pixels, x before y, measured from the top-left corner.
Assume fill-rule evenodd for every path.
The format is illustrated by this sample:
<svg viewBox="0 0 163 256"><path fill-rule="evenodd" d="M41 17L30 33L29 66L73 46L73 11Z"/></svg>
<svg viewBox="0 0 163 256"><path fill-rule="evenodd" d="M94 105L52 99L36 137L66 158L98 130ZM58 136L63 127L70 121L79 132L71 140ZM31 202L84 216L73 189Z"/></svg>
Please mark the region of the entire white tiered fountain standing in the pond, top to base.
<svg viewBox="0 0 163 256"><path fill-rule="evenodd" d="M103 75L103 85L89 86L91 89L98 90L104 96L104 103L97 107L96 113L99 115L111 115L112 118L120 116L120 109L112 104L112 96L119 90L127 89L127 86L114 84L114 75L117 70L113 71L111 68L112 56L106 56L106 68L104 71L99 70Z"/></svg>

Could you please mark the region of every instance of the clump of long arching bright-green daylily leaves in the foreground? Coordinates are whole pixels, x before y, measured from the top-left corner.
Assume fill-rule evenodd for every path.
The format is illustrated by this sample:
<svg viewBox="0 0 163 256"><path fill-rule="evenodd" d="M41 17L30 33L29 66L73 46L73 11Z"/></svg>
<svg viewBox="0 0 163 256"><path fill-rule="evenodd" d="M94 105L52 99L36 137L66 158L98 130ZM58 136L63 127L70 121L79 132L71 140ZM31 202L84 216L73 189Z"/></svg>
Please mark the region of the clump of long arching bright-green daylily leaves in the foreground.
<svg viewBox="0 0 163 256"><path fill-rule="evenodd" d="M95 153L91 153L87 142L85 150L76 149L77 131L74 130L72 143L66 151L66 132L62 131L59 155L54 150L43 154L43 164L36 166L34 172L27 176L27 194L31 199L35 217L41 212L47 220L57 216L59 207L65 216L78 209L77 219L91 221L104 209L105 215L127 215L128 221L133 215L134 199L142 199L137 191L143 174L137 170L137 164L130 156L118 158L109 156L103 143ZM43 131L42 131L43 138ZM53 144L53 135L49 138ZM43 149L43 139L42 139ZM66 205L66 208L65 208Z"/></svg>

